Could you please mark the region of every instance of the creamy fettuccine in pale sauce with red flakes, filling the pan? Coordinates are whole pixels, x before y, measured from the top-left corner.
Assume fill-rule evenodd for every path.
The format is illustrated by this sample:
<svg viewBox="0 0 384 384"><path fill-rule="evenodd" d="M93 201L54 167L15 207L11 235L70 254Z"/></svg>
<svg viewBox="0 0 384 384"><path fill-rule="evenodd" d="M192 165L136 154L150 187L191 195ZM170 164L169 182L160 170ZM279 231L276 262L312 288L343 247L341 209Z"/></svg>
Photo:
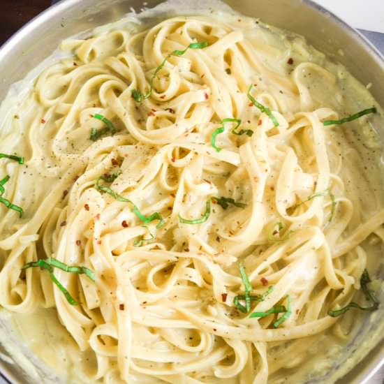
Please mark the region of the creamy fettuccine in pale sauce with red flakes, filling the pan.
<svg viewBox="0 0 384 384"><path fill-rule="evenodd" d="M34 353L83 383L330 369L369 312L327 313L369 305L360 276L384 240L367 89L304 38L239 15L112 25L63 48L74 56L1 124L0 152L25 161L0 164L24 210L0 207L0 303ZM95 273L54 268L80 304L46 269L22 270L49 257Z"/></svg>

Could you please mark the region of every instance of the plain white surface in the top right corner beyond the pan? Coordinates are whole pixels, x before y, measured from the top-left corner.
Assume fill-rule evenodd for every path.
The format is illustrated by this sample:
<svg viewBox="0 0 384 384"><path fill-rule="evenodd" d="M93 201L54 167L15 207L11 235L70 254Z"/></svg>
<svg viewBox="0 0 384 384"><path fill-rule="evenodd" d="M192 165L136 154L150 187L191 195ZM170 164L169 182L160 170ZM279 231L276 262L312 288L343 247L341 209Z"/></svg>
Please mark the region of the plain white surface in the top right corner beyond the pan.
<svg viewBox="0 0 384 384"><path fill-rule="evenodd" d="M352 27L384 34L384 0L313 0Z"/></svg>

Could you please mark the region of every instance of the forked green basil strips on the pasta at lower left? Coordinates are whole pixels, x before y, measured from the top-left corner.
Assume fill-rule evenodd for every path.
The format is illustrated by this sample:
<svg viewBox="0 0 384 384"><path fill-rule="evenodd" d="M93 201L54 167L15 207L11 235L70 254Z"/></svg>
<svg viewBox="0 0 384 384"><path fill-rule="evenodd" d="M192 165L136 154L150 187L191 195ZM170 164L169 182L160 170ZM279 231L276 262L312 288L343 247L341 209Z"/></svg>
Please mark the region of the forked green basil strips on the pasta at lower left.
<svg viewBox="0 0 384 384"><path fill-rule="evenodd" d="M71 305L79 305L78 302L76 302L75 299L71 296L71 293L66 290L66 288L57 280L56 276L54 276L53 269L59 268L63 270L64 272L70 272L75 274L85 274L89 279L92 281L95 281L95 273L91 271L91 269L88 269L87 267L75 267L75 266L69 266L65 263L61 263L61 261L55 259L55 258L47 258L45 260L38 260L33 261L31 263L27 263L22 267L22 269L27 268L34 268L34 267L41 267L43 269L47 269L48 272L50 272L50 278L54 282L54 284L61 290L62 293L64 293L64 296L66 297L66 300Z"/></svg>

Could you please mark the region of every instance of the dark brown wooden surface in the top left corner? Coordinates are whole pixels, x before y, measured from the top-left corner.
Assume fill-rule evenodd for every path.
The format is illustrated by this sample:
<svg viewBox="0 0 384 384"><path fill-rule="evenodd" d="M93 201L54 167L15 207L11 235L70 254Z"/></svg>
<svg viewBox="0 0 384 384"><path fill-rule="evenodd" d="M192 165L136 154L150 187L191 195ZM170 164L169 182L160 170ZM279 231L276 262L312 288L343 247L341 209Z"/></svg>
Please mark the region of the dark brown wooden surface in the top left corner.
<svg viewBox="0 0 384 384"><path fill-rule="evenodd" d="M0 45L5 43L17 29L50 6L50 0L0 0Z"/></svg>

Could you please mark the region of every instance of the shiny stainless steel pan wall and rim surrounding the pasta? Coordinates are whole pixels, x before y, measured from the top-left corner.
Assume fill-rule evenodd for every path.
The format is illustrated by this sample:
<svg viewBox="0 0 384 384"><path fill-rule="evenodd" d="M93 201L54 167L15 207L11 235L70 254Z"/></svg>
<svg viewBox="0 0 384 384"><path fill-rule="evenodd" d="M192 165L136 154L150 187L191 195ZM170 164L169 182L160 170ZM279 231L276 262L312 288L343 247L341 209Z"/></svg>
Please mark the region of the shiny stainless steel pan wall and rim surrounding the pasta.
<svg viewBox="0 0 384 384"><path fill-rule="evenodd" d="M145 5L152 8L158 3L161 0L147 0ZM226 0L226 3L245 15L260 17L276 27L306 36L309 43L344 64L363 84L371 82L371 93L384 106L384 58L368 40L327 10L309 0ZM11 84L22 80L32 68L50 56L64 38L119 20L131 8L139 12L142 6L140 0L66 0L49 8L1 47L0 100L5 98ZM344 55L339 54L340 50ZM377 129L384 138L384 124ZM384 292L381 293L381 302L384 302ZM310 383L334 382L346 369L349 374L339 383L374 383L373 375L384 364L383 307L381 305L375 316L367 316L359 334L348 344L344 361L334 362L327 378L316 378ZM360 348L366 348L367 357L357 366L349 366L350 357ZM22 376L17 364L9 364L8 357L3 357L0 354L0 369L10 381L34 382Z"/></svg>

